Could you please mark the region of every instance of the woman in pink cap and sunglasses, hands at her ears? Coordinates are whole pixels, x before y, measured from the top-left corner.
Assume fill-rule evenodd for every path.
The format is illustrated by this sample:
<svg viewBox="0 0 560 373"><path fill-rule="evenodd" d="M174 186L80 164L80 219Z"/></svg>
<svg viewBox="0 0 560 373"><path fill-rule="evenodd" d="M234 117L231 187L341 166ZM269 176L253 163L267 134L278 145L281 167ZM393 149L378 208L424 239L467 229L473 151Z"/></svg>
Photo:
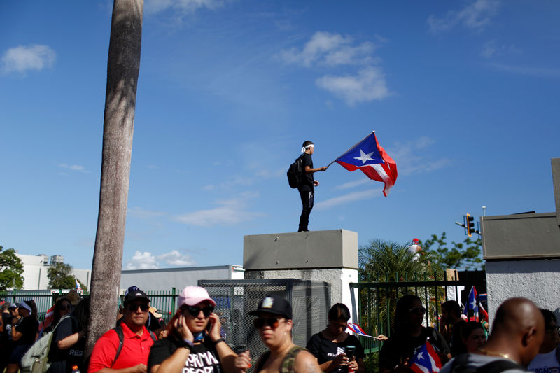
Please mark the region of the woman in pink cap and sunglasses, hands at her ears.
<svg viewBox="0 0 560 373"><path fill-rule="evenodd" d="M216 302L204 288L187 286L179 294L179 309L167 326L167 338L151 348L148 373L234 372L237 354L220 335Z"/></svg>

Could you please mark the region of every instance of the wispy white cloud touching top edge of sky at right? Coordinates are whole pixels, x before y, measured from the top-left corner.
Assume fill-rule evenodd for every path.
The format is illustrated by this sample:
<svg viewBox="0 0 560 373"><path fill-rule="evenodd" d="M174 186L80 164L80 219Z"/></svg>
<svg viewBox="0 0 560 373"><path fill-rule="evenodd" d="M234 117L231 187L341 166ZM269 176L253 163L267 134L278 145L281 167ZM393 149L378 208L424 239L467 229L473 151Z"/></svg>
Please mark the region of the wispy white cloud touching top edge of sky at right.
<svg viewBox="0 0 560 373"><path fill-rule="evenodd" d="M498 13L500 3L496 0L475 0L461 10L451 10L443 17L428 17L428 26L433 33L447 31L457 24L475 31L482 31Z"/></svg>

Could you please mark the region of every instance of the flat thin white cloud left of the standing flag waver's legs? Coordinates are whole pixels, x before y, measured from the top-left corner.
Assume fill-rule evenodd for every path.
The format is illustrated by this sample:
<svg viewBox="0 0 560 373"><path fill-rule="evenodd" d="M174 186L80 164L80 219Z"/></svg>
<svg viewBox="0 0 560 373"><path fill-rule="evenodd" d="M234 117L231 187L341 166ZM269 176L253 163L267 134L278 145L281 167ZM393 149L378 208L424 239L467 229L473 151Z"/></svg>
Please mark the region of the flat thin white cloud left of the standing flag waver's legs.
<svg viewBox="0 0 560 373"><path fill-rule="evenodd" d="M214 209L183 213L176 216L174 220L184 224L211 227L216 225L235 225L264 216L265 214L263 213L247 210L246 200L249 197L251 196L246 194L239 198L218 201L216 202L218 207Z"/></svg>

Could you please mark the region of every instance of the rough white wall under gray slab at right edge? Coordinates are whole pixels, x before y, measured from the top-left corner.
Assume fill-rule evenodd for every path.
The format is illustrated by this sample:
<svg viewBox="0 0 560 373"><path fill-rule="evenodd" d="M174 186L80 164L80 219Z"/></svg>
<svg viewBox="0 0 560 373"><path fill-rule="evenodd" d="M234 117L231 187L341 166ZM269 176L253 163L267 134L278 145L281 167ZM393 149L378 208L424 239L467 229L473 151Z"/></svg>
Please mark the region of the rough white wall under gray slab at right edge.
<svg viewBox="0 0 560 373"><path fill-rule="evenodd" d="M490 325L510 297L526 297L540 308L560 312L560 259L486 262Z"/></svg>

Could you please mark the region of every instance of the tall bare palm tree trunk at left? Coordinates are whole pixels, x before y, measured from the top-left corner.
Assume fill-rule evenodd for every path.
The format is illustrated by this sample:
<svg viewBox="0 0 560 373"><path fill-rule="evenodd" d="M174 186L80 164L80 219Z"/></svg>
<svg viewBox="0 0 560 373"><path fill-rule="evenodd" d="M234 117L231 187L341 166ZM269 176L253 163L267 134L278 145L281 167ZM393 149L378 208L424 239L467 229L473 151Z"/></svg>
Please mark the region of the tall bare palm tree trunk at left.
<svg viewBox="0 0 560 373"><path fill-rule="evenodd" d="M144 0L115 0L107 63L99 216L85 356L116 321L127 213L130 157Z"/></svg>

